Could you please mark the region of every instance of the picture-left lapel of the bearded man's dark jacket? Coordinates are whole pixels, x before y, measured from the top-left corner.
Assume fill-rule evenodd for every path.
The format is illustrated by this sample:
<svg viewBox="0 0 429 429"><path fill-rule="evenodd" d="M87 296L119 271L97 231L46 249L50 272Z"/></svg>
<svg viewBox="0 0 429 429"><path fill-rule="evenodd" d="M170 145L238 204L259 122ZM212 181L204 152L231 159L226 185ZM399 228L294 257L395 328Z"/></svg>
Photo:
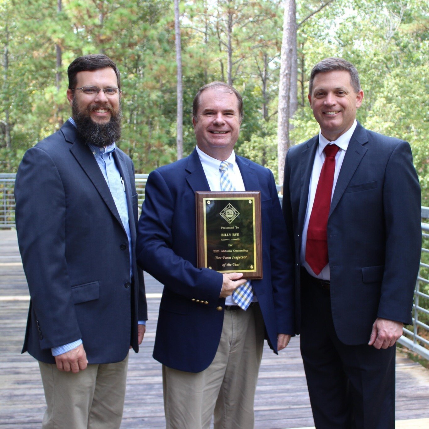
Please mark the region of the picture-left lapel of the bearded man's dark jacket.
<svg viewBox="0 0 429 429"><path fill-rule="evenodd" d="M67 121L66 124L69 124L69 121ZM73 127L73 124L69 124L69 126ZM61 130L63 130L63 128L61 128ZM122 225L118 209L116 208L115 201L113 201L112 193L110 192L109 186L107 186L106 179L104 178L94 155L91 153L91 150L84 142L82 142L81 139L79 139L76 129L70 130L69 127L67 127L64 131L64 136L66 137L67 142L72 144L70 152L88 175L89 179L94 184L94 187L97 189L98 193L100 193L101 198L112 212L112 215L115 216L118 222ZM72 131L74 131L74 133Z"/></svg>

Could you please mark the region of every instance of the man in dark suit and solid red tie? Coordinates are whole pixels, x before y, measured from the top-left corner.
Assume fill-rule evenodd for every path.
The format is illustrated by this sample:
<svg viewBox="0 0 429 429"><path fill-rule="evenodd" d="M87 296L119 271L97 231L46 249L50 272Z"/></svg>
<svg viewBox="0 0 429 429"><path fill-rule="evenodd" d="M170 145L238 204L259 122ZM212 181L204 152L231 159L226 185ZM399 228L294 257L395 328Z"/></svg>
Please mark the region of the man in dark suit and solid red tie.
<svg viewBox="0 0 429 429"><path fill-rule="evenodd" d="M356 121L353 64L326 58L308 100L320 133L287 152L283 211L317 428L395 427L395 341L411 323L421 248L410 145Z"/></svg>

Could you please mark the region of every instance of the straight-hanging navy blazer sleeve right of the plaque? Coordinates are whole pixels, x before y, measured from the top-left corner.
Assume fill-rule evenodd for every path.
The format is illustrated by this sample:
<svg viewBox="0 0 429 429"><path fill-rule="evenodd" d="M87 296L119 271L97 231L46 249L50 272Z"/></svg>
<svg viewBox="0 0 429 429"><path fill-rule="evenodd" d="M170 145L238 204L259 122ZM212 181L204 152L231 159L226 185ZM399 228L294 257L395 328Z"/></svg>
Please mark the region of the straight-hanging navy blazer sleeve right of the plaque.
<svg viewBox="0 0 429 429"><path fill-rule="evenodd" d="M271 282L274 295L277 333L295 333L293 257L281 212L277 188L270 171L272 227L270 237Z"/></svg>

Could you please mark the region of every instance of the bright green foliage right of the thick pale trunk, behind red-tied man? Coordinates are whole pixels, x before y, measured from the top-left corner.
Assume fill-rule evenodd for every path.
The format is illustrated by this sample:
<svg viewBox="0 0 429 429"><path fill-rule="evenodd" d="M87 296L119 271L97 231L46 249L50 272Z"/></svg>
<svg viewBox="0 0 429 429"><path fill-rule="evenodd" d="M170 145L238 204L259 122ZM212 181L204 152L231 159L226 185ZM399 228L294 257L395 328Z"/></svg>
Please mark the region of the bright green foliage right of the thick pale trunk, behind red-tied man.
<svg viewBox="0 0 429 429"><path fill-rule="evenodd" d="M298 14L303 9L299 7ZM298 40L303 43L300 54L305 59L307 80L311 67L323 57L344 57L355 64L365 94L357 119L371 130L410 143L422 186L422 204L428 205L428 3L335 1L317 18L315 15L302 24ZM292 121L294 142L318 132L308 102L300 102L302 107Z"/></svg>

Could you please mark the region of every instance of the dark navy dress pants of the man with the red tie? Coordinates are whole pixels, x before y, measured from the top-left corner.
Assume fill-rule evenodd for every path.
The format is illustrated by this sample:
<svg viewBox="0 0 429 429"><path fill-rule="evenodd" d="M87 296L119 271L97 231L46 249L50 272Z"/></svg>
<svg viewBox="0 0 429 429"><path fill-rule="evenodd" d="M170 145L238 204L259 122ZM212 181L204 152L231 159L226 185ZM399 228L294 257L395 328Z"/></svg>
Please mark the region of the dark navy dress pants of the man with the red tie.
<svg viewBox="0 0 429 429"><path fill-rule="evenodd" d="M316 428L393 429L396 347L342 343L329 290L301 279L301 354Z"/></svg>

